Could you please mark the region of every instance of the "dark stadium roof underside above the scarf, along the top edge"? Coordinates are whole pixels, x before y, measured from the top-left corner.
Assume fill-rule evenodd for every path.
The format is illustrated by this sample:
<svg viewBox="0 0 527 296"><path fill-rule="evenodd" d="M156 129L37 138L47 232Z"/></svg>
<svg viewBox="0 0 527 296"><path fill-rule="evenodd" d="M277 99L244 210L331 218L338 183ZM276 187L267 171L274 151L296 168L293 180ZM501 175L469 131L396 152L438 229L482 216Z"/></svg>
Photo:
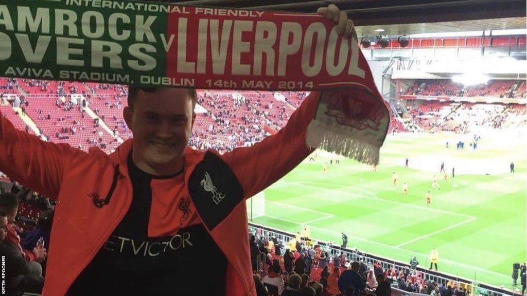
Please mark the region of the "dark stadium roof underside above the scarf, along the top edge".
<svg viewBox="0 0 527 296"><path fill-rule="evenodd" d="M353 19L359 36L525 29L525 0L191 0L189 6L316 12L336 4Z"/></svg>

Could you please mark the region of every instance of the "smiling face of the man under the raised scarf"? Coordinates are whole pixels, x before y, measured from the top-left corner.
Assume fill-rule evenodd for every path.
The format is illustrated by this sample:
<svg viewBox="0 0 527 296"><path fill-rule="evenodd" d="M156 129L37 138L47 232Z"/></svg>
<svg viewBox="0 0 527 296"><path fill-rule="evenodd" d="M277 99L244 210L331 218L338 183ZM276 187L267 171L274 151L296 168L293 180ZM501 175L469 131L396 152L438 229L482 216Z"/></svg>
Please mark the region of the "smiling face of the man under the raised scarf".
<svg viewBox="0 0 527 296"><path fill-rule="evenodd" d="M186 89L139 91L133 109L124 110L124 120L133 133L136 165L156 172L181 169L195 116Z"/></svg>

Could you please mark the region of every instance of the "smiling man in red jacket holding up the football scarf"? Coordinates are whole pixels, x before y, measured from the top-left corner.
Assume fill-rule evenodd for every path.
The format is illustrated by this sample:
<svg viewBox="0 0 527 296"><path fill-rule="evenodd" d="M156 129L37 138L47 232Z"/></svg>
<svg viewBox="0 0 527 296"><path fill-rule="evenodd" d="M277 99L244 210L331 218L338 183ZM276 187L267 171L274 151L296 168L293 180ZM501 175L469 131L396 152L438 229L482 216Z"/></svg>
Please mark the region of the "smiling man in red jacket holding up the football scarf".
<svg viewBox="0 0 527 296"><path fill-rule="evenodd" d="M335 5L317 13L350 36ZM194 90L131 87L123 117L133 139L111 155L40 141L0 114L0 171L57 200L43 293L195 295L189 283L214 266L201 294L255 295L245 198L313 152L305 135L318 98L277 134L222 155L187 146Z"/></svg>

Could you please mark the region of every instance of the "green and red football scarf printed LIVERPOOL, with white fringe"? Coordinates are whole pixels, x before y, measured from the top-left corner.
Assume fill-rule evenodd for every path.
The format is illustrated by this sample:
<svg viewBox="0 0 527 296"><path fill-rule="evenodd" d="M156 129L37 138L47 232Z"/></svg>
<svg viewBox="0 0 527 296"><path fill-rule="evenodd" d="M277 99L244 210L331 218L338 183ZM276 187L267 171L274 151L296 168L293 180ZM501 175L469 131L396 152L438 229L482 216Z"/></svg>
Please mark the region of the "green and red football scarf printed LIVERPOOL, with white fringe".
<svg viewBox="0 0 527 296"><path fill-rule="evenodd" d="M112 0L0 0L0 76L324 91L307 144L378 162L389 114L357 36L323 16Z"/></svg>

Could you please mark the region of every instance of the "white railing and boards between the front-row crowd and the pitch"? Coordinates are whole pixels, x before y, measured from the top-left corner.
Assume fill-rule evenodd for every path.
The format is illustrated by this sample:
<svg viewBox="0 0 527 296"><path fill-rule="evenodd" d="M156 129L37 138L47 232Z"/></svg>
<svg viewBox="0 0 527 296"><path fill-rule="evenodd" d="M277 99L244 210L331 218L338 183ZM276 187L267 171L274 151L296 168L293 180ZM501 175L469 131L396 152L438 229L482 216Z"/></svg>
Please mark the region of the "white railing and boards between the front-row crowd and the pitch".
<svg viewBox="0 0 527 296"><path fill-rule="evenodd" d="M269 228L264 225L259 225L255 223L249 223L249 233L256 233L258 232L261 235L271 237L272 235L275 235L278 240L281 240L282 242L289 242L292 238L295 237L295 234ZM314 239L313 239L314 240ZM389 258L383 258L377 255L368 254L365 252L360 252L358 250L351 250L351 249L343 249L340 246L332 245L328 242L323 242L316 240L317 244L321 246L322 249L325 249L326 252L328 252L331 256L339 255L340 253L343 253L348 261L360 261L363 260L364 263L366 263L369 266L372 266L374 263L378 262L380 263L380 266L387 270L389 268L395 268L395 269L404 269L404 268L411 268L409 264L389 259ZM494 287L492 285L484 284L484 283L478 283L478 282L472 282L471 280L454 277L453 275L444 274L441 272L436 272L432 270L427 270L423 268L417 267L417 270L423 273L423 279L424 280L431 280L437 283L438 285L447 284L450 281L454 281L459 283L459 286L462 288L465 288L469 291L471 291L471 295L485 295L485 296L503 296L503 295L520 295L518 292L501 289L498 287Z"/></svg>

